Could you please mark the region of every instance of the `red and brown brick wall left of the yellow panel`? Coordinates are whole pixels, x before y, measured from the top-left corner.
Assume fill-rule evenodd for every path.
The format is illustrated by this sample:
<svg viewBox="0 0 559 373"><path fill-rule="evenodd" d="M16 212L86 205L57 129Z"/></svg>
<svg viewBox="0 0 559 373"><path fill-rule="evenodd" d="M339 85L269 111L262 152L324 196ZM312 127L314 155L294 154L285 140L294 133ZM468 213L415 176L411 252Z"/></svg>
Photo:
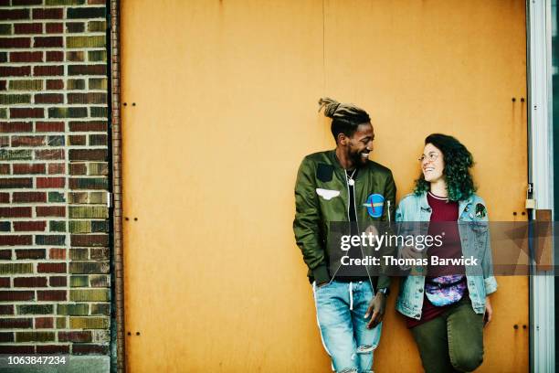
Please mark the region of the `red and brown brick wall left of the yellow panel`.
<svg viewBox="0 0 559 373"><path fill-rule="evenodd" d="M109 354L106 13L0 0L0 353Z"/></svg>

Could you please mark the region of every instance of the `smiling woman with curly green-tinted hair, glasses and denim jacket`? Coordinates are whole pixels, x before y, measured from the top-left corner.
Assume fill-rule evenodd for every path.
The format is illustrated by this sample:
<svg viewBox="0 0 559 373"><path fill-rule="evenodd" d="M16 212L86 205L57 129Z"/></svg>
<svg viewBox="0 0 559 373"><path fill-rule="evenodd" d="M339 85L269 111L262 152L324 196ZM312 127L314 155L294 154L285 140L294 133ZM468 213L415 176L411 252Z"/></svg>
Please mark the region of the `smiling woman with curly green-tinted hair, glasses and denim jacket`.
<svg viewBox="0 0 559 373"><path fill-rule="evenodd" d="M483 327L493 314L488 295L497 290L487 209L475 194L469 172L473 158L456 138L428 135L419 162L421 176L414 193L400 201L396 221L401 227L406 221L428 221L427 235L442 237L442 244L425 252L400 248L401 258L420 264L412 264L401 282L396 309L406 316L427 373L469 372L483 361ZM480 261L475 268L433 261L474 256Z"/></svg>

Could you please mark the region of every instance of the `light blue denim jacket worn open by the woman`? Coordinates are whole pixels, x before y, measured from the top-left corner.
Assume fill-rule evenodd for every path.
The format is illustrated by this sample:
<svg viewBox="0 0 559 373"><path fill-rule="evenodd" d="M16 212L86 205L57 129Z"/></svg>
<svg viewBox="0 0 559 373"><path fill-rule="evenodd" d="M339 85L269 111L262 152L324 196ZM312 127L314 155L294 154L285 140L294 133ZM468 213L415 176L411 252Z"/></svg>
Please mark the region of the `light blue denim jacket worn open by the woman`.
<svg viewBox="0 0 559 373"><path fill-rule="evenodd" d="M479 205L481 205L479 207ZM477 213L482 208L483 213ZM431 208L427 203L427 192L404 197L396 209L396 221L429 221ZM477 195L459 201L459 235L464 256L480 258L480 271L469 271L466 267L469 298L476 314L485 312L485 297L497 290L497 282L492 273L490 235L485 202ZM466 224L462 224L466 222ZM427 225L423 225L427 227ZM427 232L422 232L425 234ZM483 275L481 275L481 273ZM401 314L419 320L423 307L425 276L408 275L400 283L396 310Z"/></svg>

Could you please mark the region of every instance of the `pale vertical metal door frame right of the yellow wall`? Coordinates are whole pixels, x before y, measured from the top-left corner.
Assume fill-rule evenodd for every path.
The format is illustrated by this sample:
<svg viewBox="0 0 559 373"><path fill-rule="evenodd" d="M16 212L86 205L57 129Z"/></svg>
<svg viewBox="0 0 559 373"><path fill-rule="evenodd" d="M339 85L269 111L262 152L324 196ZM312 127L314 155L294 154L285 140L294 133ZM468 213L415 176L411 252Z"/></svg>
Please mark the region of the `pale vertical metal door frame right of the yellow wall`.
<svg viewBox="0 0 559 373"><path fill-rule="evenodd" d="M554 207L551 1L527 0L528 167L537 209ZM533 209L531 218L535 218ZM552 215L553 216L553 215ZM553 260L553 255L552 255ZM530 277L530 368L555 371L554 273Z"/></svg>

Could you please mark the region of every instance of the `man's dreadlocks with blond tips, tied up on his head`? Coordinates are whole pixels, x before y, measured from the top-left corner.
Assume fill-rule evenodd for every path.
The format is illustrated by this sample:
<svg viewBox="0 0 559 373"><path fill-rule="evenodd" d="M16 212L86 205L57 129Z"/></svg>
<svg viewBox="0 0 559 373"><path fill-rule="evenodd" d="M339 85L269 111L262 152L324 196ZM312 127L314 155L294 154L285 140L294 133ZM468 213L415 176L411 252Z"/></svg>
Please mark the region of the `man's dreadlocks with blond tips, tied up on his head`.
<svg viewBox="0 0 559 373"><path fill-rule="evenodd" d="M351 137L359 124L371 123L369 114L352 103L341 103L329 97L322 97L319 105L319 112L324 108L324 115L332 118L331 131L336 141L338 134L343 133Z"/></svg>

